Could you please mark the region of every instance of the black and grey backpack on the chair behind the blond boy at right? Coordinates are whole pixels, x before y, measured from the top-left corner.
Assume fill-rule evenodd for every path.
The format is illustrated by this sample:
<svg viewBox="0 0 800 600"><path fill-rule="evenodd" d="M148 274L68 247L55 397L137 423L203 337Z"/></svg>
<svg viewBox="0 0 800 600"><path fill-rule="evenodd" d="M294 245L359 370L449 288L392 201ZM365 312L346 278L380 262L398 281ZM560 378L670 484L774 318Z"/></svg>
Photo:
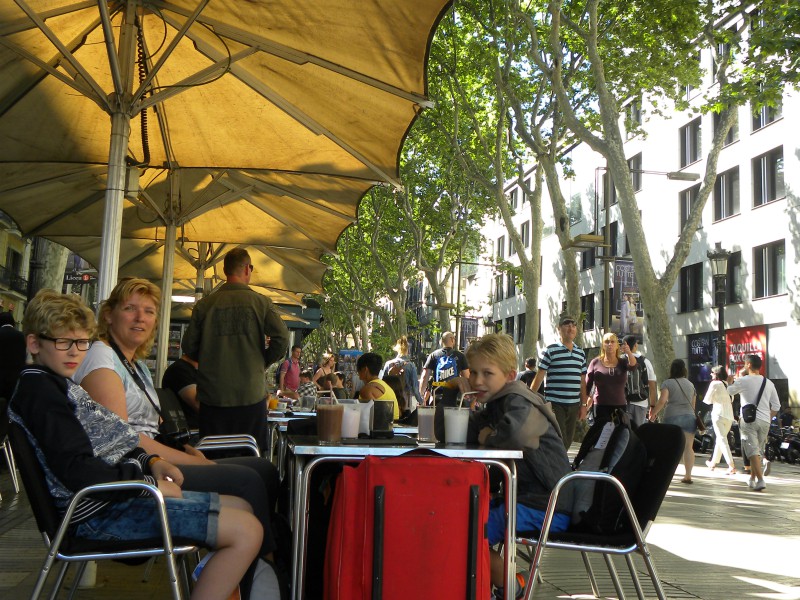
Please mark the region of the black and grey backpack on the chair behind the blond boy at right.
<svg viewBox="0 0 800 600"><path fill-rule="evenodd" d="M609 473L632 496L647 467L647 449L636 426L624 409L617 409L611 420L595 421L586 432L572 463L574 471ZM610 484L578 481L572 508L572 531L613 534L630 528L622 498Z"/></svg>

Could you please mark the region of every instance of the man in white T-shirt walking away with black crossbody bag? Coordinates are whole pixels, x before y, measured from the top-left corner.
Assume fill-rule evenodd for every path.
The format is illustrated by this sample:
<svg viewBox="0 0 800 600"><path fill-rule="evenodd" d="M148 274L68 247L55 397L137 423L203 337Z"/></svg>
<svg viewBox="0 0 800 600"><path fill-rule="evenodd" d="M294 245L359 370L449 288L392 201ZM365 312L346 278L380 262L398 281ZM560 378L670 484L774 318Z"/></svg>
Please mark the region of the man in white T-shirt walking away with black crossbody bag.
<svg viewBox="0 0 800 600"><path fill-rule="evenodd" d="M767 487L761 457L764 456L769 424L781 409L775 385L761 375L762 364L760 356L748 354L740 377L734 380L733 374L728 376L728 393L731 396L739 394L741 405L739 433L742 436L742 454L750 459L750 480L747 485L756 492Z"/></svg>

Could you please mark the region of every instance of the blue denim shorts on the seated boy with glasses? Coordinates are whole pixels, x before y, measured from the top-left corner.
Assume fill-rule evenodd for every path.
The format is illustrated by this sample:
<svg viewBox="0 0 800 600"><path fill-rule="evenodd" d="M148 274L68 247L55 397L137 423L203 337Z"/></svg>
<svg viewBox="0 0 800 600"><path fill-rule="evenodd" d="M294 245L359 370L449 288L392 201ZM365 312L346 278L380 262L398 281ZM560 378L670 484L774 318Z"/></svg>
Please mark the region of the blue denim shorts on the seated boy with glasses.
<svg viewBox="0 0 800 600"><path fill-rule="evenodd" d="M217 545L219 494L183 492L183 498L165 498L169 529L174 538L208 548ZM152 498L130 498L109 504L79 523L74 535L88 540L160 539L161 528Z"/></svg>

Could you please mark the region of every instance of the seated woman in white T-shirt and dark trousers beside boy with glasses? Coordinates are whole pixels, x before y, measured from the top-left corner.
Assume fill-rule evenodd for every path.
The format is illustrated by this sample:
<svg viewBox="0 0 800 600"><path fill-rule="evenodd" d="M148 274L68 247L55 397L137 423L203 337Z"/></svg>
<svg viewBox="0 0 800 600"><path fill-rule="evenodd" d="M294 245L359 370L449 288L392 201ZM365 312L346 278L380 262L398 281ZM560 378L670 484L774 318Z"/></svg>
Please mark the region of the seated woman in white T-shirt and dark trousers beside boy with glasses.
<svg viewBox="0 0 800 600"><path fill-rule="evenodd" d="M264 528L260 556L271 559L276 549L270 526L278 489L275 466L253 456L215 462L188 444L174 448L156 439L160 407L150 371L142 359L149 354L155 339L160 301L161 290L146 279L120 280L100 305L99 340L86 353L74 381L96 402L127 421L139 434L139 445L146 452L177 465L184 476L184 490L217 492L246 500Z"/></svg>

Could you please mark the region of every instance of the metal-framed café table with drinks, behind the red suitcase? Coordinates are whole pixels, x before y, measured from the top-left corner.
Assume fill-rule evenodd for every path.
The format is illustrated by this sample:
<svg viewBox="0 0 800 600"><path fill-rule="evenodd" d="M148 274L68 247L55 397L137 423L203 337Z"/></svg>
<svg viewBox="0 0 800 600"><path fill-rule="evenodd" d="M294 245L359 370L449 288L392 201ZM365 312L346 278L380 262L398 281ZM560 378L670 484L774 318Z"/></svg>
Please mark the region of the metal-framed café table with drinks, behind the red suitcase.
<svg viewBox="0 0 800 600"><path fill-rule="evenodd" d="M360 462L367 456L400 456L418 447L432 450L448 458L469 459L498 467L505 477L505 501L508 527L504 546L506 590L514 590L516 574L516 529L517 470L515 460L522 458L521 450L503 450L477 445L436 444L418 445L409 437L392 440L347 440L338 445L321 445L316 436L287 436L289 457L292 462L290 482L290 507L293 535L292 594L302 600L305 579L306 528L308 526L309 481L314 469L326 462Z"/></svg>

